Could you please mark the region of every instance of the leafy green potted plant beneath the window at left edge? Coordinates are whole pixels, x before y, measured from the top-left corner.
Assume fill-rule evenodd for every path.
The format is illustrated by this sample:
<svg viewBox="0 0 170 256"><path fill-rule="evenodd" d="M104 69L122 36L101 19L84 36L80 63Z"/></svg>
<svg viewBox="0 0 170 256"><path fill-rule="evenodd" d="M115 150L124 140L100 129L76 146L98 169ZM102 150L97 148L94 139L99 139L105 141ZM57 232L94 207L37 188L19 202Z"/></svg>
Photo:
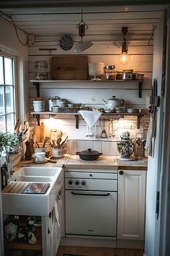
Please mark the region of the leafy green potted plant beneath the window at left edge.
<svg viewBox="0 0 170 256"><path fill-rule="evenodd" d="M11 148L19 143L18 136L11 132L0 132L0 156L4 151L6 156Z"/></svg>

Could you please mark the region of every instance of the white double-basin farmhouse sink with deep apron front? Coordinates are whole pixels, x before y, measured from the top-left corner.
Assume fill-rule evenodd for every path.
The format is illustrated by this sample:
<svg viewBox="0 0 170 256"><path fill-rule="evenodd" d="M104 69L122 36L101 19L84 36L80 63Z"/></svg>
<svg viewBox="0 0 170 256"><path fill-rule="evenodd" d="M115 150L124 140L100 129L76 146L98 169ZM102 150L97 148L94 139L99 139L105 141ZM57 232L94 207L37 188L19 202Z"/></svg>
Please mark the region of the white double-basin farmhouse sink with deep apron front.
<svg viewBox="0 0 170 256"><path fill-rule="evenodd" d="M63 169L58 167L22 167L12 175L11 182L49 183L45 194L2 192L4 214L48 216L63 185Z"/></svg>

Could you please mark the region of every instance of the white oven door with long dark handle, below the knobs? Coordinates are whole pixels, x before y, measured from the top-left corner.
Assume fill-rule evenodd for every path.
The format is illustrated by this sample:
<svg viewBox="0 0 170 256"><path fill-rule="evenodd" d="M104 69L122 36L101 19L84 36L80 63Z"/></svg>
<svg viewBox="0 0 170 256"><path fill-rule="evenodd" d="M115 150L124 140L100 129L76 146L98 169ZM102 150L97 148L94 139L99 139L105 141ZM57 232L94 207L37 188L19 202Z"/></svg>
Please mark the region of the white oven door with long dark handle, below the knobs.
<svg viewBox="0 0 170 256"><path fill-rule="evenodd" d="M66 190L66 235L116 236L117 192Z"/></svg>

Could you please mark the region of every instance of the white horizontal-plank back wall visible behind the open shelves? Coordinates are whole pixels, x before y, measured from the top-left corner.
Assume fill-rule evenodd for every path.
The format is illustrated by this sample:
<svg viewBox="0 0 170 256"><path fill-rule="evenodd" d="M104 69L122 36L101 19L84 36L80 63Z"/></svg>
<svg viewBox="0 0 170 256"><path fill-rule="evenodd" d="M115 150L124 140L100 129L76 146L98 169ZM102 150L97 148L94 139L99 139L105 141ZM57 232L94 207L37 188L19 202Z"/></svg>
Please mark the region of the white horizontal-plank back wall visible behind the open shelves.
<svg viewBox="0 0 170 256"><path fill-rule="evenodd" d="M42 51L41 48L57 48L54 51ZM129 64L122 66L118 63L118 55L121 48L107 44L97 44L84 51L82 55L88 56L89 62L103 61L105 64L115 64L116 70L133 69L134 72L145 74L143 82L142 98L138 98L138 82L43 82L40 84L40 95L45 99L46 109L48 110L48 98L58 96L65 98L71 103L82 103L90 107L104 106L101 98L106 101L115 95L117 98L125 100L126 107L142 107L146 108L148 104L148 97L151 95L152 82L152 61L153 61L153 46L148 45L147 41L136 41L129 43L128 53L130 54ZM34 46L29 47L29 74L30 80L35 80L36 71L34 68L35 61L48 61L50 70L51 56L73 56L73 48L69 51L63 51L60 46L50 46L49 43L35 43ZM50 79L50 75L48 77ZM30 111L33 110L32 101L36 98L36 90L32 82L30 82ZM32 129L35 126L35 118L30 114ZM49 116L41 116L41 121L48 127L50 123ZM141 119L140 129L136 129L136 118L128 118L124 120L124 124L120 121L114 120L115 137L109 137L110 119L109 116L105 120L105 129L108 138L101 139L102 121L97 121L97 138L85 137L86 123L79 116L79 129L75 127L74 115L59 115L53 120L53 127L61 129L62 132L68 132L68 143L66 145L67 153L75 153L86 148L93 148L102 151L104 155L116 155L117 147L116 141L120 140L120 132L128 129L130 136L135 140L135 137L146 138L146 130L148 127L148 118ZM139 135L139 136L138 136Z"/></svg>

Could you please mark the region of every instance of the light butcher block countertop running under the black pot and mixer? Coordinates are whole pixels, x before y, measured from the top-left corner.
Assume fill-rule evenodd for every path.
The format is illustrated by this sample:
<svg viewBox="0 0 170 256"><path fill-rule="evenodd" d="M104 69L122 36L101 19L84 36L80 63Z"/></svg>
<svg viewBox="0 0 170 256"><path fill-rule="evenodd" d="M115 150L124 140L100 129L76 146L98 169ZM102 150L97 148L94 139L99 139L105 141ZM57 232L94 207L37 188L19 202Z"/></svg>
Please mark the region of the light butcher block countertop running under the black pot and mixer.
<svg viewBox="0 0 170 256"><path fill-rule="evenodd" d="M96 161L84 161L79 158L79 155L65 154L63 158L52 158L56 163L34 163L33 161L21 161L13 170L17 171L22 166L37 166L37 167L66 167L66 168L106 168L106 169L121 169L124 170L143 170L147 171L147 159L138 157L135 161L120 161L116 156L101 155Z"/></svg>

